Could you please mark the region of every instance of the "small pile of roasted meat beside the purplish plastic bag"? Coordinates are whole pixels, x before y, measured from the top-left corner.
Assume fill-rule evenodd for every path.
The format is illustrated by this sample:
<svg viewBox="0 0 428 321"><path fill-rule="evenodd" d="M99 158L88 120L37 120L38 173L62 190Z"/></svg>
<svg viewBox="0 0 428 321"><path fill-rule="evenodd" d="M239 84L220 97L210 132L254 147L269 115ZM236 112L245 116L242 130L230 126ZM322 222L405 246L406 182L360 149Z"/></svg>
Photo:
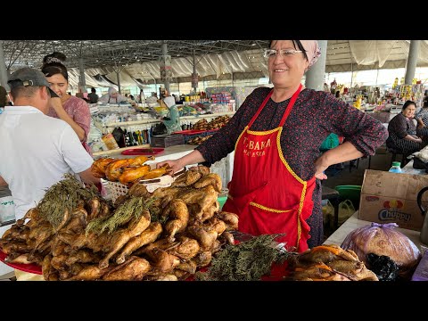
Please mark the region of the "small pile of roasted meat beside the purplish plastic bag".
<svg viewBox="0 0 428 321"><path fill-rule="evenodd" d="M295 281L378 281L357 254L337 245L321 245L304 251L291 261Z"/></svg>

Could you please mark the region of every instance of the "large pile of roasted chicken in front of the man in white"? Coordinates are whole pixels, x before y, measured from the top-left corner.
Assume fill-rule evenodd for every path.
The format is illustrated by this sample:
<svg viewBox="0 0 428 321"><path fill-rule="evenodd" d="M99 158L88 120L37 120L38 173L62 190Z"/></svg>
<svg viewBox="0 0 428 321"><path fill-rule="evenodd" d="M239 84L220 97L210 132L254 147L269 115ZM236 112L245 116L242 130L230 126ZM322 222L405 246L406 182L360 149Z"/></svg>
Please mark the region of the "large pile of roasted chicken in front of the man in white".
<svg viewBox="0 0 428 321"><path fill-rule="evenodd" d="M41 218L37 208L29 210L4 233L0 247L11 263L41 265L45 280L183 280L234 243L228 231L237 229L238 217L219 210L220 191L217 174L195 167L153 193L132 185L116 209L101 197L82 199L59 226ZM112 232L86 228L135 198L152 200L149 209Z"/></svg>

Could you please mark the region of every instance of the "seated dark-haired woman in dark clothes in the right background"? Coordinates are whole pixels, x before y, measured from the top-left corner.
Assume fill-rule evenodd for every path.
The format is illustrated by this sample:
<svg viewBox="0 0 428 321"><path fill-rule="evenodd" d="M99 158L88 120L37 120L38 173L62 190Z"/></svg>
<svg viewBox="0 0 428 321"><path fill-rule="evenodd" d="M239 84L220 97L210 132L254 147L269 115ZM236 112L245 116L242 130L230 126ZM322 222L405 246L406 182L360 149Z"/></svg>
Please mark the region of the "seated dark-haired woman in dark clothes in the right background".
<svg viewBox="0 0 428 321"><path fill-rule="evenodd" d="M427 144L423 136L428 136L428 128L416 128L415 119L416 103L407 101L402 111L391 119L388 124L390 136L386 140L386 146L407 157L413 152L418 152Z"/></svg>

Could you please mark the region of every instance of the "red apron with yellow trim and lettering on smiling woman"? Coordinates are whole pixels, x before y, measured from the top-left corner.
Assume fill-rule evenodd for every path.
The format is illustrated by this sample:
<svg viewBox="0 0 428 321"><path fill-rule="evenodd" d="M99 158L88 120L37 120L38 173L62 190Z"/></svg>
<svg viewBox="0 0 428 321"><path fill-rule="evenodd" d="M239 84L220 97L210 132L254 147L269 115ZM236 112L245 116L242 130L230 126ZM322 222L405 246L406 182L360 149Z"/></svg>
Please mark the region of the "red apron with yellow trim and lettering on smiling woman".
<svg viewBox="0 0 428 321"><path fill-rule="evenodd" d="M280 137L301 85L292 95L278 128L268 131L250 130L265 107L272 91L243 129L235 144L234 174L228 184L229 194L223 210L239 216L238 230L251 235L284 234L289 251L308 249L315 177L304 181L284 159Z"/></svg>

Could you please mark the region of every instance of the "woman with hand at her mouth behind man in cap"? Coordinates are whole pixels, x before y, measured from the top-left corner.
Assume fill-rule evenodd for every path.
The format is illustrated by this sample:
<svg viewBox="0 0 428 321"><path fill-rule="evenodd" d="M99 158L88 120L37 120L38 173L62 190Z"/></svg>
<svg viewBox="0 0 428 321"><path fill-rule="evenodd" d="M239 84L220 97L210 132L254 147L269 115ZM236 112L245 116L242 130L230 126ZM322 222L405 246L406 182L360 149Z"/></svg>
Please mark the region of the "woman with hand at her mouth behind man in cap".
<svg viewBox="0 0 428 321"><path fill-rule="evenodd" d="M51 109L47 115L67 122L78 135L86 151L92 155L91 147L86 143L91 128L91 113L85 100L67 93L69 73L63 64L65 60L66 56L58 52L48 54L43 59L42 72L53 92L58 95L58 98L51 100Z"/></svg>

